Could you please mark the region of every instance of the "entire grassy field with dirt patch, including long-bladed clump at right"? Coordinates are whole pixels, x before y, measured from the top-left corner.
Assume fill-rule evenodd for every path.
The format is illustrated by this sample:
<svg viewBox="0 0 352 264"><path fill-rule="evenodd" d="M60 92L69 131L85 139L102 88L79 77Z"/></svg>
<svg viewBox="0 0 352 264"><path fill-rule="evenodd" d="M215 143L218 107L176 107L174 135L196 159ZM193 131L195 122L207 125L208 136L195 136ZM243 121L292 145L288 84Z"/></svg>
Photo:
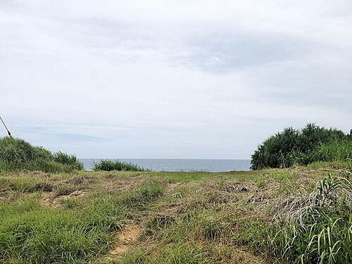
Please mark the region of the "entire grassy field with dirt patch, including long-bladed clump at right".
<svg viewBox="0 0 352 264"><path fill-rule="evenodd" d="M0 172L0 263L348 263L351 171L326 167Z"/></svg>

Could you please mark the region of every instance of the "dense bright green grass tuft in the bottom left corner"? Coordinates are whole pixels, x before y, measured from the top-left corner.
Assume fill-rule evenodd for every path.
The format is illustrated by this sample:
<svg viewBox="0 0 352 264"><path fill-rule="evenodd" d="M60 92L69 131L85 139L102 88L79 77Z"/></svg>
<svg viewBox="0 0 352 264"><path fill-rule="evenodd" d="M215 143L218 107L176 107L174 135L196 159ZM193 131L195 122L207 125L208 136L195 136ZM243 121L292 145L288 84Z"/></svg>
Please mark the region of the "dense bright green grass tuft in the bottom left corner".
<svg viewBox="0 0 352 264"><path fill-rule="evenodd" d="M89 221L90 220L90 221ZM77 218L71 212L37 209L4 218L0 227L1 258L25 263L77 263L107 249L106 225Z"/></svg>

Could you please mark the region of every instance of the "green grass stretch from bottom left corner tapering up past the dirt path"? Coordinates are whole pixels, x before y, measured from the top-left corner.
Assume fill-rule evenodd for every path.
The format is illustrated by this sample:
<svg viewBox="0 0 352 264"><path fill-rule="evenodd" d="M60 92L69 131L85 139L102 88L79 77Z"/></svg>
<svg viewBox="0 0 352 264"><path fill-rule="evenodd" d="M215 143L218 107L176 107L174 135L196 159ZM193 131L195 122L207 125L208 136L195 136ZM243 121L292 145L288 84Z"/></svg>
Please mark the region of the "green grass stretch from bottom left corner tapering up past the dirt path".
<svg viewBox="0 0 352 264"><path fill-rule="evenodd" d="M23 189L20 189L23 191ZM108 250L113 232L134 210L161 195L158 182L146 180L135 191L94 196L78 210L40 206L36 199L0 206L0 259L6 263L87 263Z"/></svg>

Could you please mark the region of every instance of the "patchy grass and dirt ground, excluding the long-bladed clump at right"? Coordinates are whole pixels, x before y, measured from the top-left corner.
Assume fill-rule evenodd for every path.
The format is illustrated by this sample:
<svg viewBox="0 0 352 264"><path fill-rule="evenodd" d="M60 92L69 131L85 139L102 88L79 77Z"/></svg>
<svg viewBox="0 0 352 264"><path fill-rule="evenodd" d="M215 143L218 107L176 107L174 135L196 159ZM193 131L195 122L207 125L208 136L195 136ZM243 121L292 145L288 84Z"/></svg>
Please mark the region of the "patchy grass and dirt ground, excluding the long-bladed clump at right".
<svg viewBox="0 0 352 264"><path fill-rule="evenodd" d="M3 172L0 263L284 263L253 237L327 172Z"/></svg>

